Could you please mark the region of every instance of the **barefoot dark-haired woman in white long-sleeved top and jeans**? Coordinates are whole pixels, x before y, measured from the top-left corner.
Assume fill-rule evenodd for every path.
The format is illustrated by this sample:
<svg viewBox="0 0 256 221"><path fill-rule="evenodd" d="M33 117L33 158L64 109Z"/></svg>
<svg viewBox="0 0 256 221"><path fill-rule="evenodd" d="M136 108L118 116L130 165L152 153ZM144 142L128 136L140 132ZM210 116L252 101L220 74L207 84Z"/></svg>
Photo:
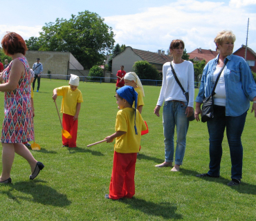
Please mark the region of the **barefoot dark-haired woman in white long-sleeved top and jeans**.
<svg viewBox="0 0 256 221"><path fill-rule="evenodd" d="M173 40L170 44L170 52L173 56L172 66L175 70L184 90L189 93L189 102L185 98L181 87L172 73L170 62L163 65L163 84L161 92L154 108L154 113L159 117L159 110L163 106L163 134L165 136L165 162L156 167L172 166L171 171L179 171L183 162L188 132L189 120L193 114L194 104L194 67L192 62L184 61L183 55L185 44L182 40ZM174 129L176 126L177 140L174 161Z"/></svg>

